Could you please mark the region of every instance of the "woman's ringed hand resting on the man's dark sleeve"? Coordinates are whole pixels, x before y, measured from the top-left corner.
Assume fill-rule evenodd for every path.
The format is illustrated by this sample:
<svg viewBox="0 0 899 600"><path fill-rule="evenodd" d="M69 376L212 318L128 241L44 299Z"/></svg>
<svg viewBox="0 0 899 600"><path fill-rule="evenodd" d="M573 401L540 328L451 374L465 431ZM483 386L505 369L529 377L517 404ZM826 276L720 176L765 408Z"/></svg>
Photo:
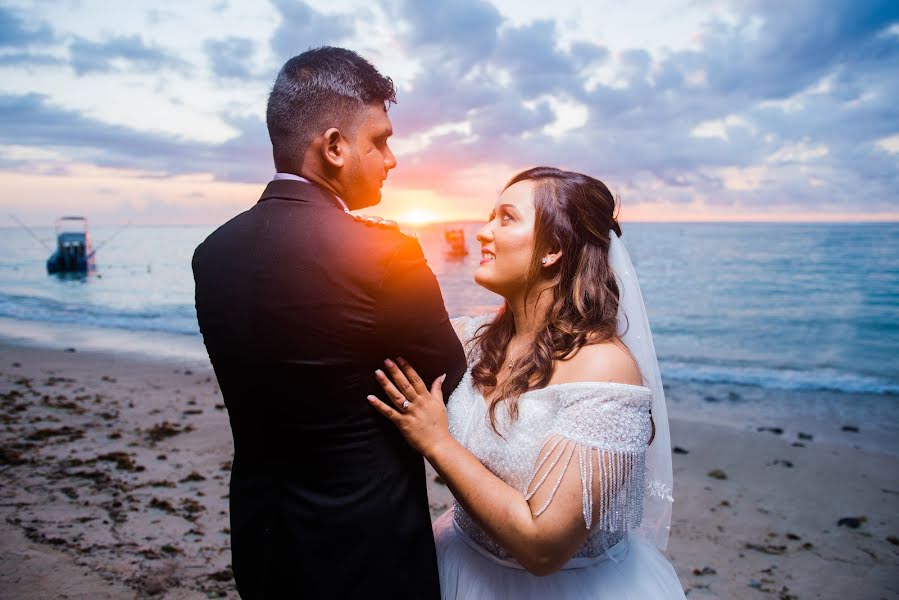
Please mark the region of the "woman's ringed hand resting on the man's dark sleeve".
<svg viewBox="0 0 899 600"><path fill-rule="evenodd" d="M387 359L384 365L390 377L380 369L375 371L375 377L393 407L376 396L368 396L368 401L397 426L410 446L427 456L429 448L449 437L446 406L440 387L446 375L435 379L429 391L415 369L402 358L398 358L396 363Z"/></svg>

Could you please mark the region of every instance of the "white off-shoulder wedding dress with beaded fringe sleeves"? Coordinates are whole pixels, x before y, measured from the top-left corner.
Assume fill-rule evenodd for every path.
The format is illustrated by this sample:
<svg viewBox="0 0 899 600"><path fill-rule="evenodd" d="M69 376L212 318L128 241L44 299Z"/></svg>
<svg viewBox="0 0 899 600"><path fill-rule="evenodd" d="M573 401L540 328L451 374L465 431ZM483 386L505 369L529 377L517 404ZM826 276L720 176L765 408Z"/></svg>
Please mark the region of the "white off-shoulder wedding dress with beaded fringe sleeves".
<svg viewBox="0 0 899 600"><path fill-rule="evenodd" d="M483 318L454 319L463 342L483 322ZM547 462L547 474L556 465L580 468L585 526L593 529L587 542L560 571L540 577L523 569L456 504L434 523L442 597L684 598L671 563L652 542L636 533L643 495L666 495L670 499L670 490L664 486L658 489L645 484L650 402L649 389L640 386L593 382L551 385L523 394L516 420L510 420L503 409L496 412L503 439L491 428L487 404L475 389L471 372L467 372L447 402L453 437L526 497L540 486L556 484L555 475L551 480L534 477ZM543 455L538 456L544 446ZM602 495L601 514L593 514L594 479L602 482L598 490ZM554 493L552 490L546 506Z"/></svg>

